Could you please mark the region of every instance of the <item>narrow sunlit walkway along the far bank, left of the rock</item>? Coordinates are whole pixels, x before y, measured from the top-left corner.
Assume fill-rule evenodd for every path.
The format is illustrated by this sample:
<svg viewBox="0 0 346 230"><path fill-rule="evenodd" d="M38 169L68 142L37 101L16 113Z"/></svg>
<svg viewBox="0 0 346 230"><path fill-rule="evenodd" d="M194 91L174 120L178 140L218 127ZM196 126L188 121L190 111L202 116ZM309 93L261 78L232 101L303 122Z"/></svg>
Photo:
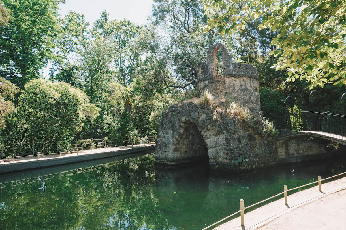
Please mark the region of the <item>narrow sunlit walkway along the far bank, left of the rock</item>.
<svg viewBox="0 0 346 230"><path fill-rule="evenodd" d="M153 146L155 145L155 142L151 143L145 143L145 144L136 144L136 145L128 145L128 146L119 146L119 147L110 147L110 148L105 148L103 151L103 148L98 148L98 149L93 149L92 151L90 149L86 150L78 150L78 154L76 151L73 152L62 152L61 157L71 157L71 156L82 156L85 154L93 154L93 153L106 153L106 152L113 152L113 151L118 151L118 150L124 150L124 149L132 149L132 148L138 148L138 147L144 147L144 146ZM49 154L40 154L40 159L50 159L50 158L58 158L60 157L60 153L49 153ZM2 158L4 162L0 162L0 164L9 164L12 163L12 157L8 158ZM22 161L36 161L38 160L38 155L29 155L29 156L19 156L15 157L14 162Z"/></svg>

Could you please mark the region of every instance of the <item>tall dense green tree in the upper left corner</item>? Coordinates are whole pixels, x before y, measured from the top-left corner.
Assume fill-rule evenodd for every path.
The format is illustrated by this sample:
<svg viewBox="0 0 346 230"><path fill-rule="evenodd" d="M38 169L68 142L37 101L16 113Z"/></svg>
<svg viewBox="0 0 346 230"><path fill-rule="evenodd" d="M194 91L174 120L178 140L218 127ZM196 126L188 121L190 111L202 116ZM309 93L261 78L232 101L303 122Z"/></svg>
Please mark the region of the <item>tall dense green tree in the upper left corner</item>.
<svg viewBox="0 0 346 230"><path fill-rule="evenodd" d="M3 0L12 12L12 21L0 27L0 77L24 88L39 78L53 56L53 40L61 29L58 3L64 0Z"/></svg>

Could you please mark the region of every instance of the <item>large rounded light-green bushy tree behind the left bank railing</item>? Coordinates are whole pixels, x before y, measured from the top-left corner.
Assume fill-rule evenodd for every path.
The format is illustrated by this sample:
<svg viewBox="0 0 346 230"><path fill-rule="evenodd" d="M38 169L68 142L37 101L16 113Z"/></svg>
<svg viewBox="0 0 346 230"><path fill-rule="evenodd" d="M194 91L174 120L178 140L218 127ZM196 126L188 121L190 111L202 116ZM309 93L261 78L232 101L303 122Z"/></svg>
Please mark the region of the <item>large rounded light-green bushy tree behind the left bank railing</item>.
<svg viewBox="0 0 346 230"><path fill-rule="evenodd" d="M86 94L67 83L30 80L19 98L20 140L52 142L70 140L86 119L95 118L99 109L88 103Z"/></svg>

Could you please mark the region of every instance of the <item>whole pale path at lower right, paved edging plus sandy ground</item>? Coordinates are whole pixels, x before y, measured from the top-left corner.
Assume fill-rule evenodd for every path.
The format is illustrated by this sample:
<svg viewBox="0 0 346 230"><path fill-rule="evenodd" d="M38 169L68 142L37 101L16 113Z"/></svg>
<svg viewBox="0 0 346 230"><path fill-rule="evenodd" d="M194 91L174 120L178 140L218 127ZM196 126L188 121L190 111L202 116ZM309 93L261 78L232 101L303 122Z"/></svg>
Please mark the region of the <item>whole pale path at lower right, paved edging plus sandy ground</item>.
<svg viewBox="0 0 346 230"><path fill-rule="evenodd" d="M318 186L314 186L293 193L288 196L287 206L284 198L281 198L245 213L244 226L240 226L238 217L221 224L215 230L345 229L345 189L346 177L322 182L322 192L318 191ZM249 205L251 204L247 204L245 200L245 207Z"/></svg>

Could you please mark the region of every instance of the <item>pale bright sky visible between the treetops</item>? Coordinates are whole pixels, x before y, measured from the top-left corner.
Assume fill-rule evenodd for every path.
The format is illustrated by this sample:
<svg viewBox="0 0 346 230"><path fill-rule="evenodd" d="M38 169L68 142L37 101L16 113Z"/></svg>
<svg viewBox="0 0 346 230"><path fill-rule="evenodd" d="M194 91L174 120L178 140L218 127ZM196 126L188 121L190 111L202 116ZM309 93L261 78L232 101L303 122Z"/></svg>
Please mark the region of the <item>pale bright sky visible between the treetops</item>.
<svg viewBox="0 0 346 230"><path fill-rule="evenodd" d="M66 0L65 4L60 4L62 17L69 11L83 13L85 20L90 25L100 17L102 11L107 10L109 19L126 19L136 24L145 24L148 16L151 15L153 0ZM49 78L49 68L52 63L48 63L43 70L43 77Z"/></svg>

